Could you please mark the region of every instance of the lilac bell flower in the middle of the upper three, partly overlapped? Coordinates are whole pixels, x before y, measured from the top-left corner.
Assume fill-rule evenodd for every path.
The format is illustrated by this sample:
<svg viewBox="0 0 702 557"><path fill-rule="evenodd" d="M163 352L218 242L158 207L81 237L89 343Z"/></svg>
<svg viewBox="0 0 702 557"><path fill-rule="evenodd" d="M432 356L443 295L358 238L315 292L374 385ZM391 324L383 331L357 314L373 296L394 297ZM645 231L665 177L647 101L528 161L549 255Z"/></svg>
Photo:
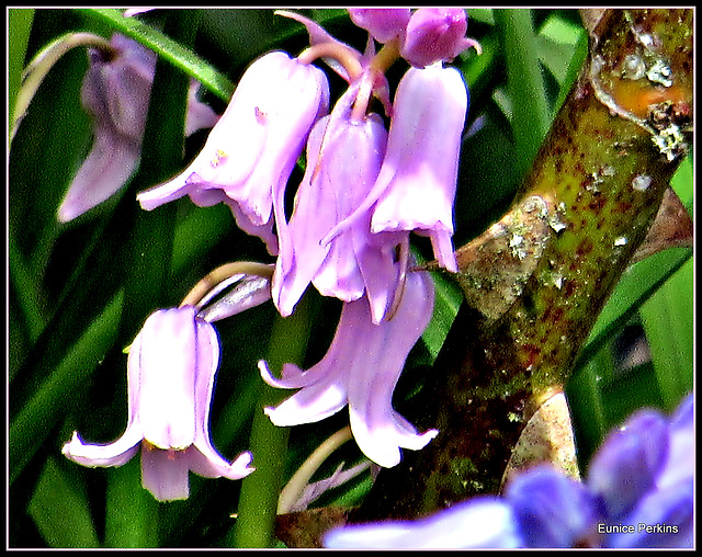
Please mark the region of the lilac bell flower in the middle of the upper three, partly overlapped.
<svg viewBox="0 0 702 557"><path fill-rule="evenodd" d="M372 235L371 213L327 245L325 235L349 216L375 183L385 155L387 132L376 114L350 116L351 88L329 116L313 128L307 168L297 189L287 226L280 223L280 257L273 275L273 299L288 316L312 282L325 296L352 302L367 293L373 321L390 305L400 268L395 262L398 235Z"/></svg>

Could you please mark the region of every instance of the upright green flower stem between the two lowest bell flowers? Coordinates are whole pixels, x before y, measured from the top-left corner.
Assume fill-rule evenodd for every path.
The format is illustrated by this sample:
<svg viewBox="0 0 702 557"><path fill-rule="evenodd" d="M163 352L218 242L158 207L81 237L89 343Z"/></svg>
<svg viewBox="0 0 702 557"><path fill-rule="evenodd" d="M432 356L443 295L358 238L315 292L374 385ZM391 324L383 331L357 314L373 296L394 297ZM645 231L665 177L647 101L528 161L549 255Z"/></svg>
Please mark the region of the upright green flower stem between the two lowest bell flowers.
<svg viewBox="0 0 702 557"><path fill-rule="evenodd" d="M295 312L275 321L269 356L271 370L286 362L302 365L309 337L309 300L303 298ZM278 500L283 487L287 451L287 428L279 428L263 413L263 408L279 403L290 393L263 385L260 403L253 417L250 450L256 471L241 485L237 519L230 532L233 547L272 547Z"/></svg>

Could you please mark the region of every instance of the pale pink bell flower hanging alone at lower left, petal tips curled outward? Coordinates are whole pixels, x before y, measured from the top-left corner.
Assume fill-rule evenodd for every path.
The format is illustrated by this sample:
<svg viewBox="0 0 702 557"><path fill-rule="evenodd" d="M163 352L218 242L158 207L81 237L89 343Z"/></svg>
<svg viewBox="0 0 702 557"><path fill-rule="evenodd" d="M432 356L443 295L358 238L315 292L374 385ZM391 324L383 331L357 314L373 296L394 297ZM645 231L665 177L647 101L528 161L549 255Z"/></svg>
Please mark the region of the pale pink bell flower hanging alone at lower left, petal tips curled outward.
<svg viewBox="0 0 702 557"><path fill-rule="evenodd" d="M228 463L210 440L218 363L217 333L193 307L151 314L129 349L124 434L90 444L76 432L63 453L83 466L121 466L140 447L141 482L159 501L188 498L189 470L206 478L247 476L253 471L250 453Z"/></svg>

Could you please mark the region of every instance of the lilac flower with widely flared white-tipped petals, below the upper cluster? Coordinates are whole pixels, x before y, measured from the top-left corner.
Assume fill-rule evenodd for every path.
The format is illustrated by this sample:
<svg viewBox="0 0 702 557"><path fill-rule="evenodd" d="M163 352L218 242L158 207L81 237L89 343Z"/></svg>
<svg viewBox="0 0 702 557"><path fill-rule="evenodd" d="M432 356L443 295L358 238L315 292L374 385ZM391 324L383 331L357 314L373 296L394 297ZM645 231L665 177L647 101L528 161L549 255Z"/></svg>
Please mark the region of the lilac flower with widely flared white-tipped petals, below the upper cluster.
<svg viewBox="0 0 702 557"><path fill-rule="evenodd" d="M376 464L392 467L400 462L400 447L422 448L437 430L419 434L393 408L392 399L405 360L431 319L433 298L429 274L409 273L394 316L378 325L371 321L365 297L346 303L327 354L309 370L285 364L279 379L260 362L268 384L299 388L278 407L265 409L271 421L317 422L348 405L353 436Z"/></svg>

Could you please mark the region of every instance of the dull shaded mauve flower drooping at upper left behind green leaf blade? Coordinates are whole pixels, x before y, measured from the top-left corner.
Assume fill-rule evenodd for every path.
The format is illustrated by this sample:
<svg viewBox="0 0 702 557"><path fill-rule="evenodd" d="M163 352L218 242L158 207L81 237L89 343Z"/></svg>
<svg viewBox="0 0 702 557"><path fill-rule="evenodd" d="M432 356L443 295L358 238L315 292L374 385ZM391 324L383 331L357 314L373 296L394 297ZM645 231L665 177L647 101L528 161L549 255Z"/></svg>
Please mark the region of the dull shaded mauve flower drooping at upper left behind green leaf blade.
<svg viewBox="0 0 702 557"><path fill-rule="evenodd" d="M89 49L90 67L81 101L93 120L94 143L58 208L61 223L120 191L139 161L156 53L120 34L114 34L110 43L116 52L113 58ZM197 100L197 87L195 81L190 87L185 135L212 127L218 118Z"/></svg>

